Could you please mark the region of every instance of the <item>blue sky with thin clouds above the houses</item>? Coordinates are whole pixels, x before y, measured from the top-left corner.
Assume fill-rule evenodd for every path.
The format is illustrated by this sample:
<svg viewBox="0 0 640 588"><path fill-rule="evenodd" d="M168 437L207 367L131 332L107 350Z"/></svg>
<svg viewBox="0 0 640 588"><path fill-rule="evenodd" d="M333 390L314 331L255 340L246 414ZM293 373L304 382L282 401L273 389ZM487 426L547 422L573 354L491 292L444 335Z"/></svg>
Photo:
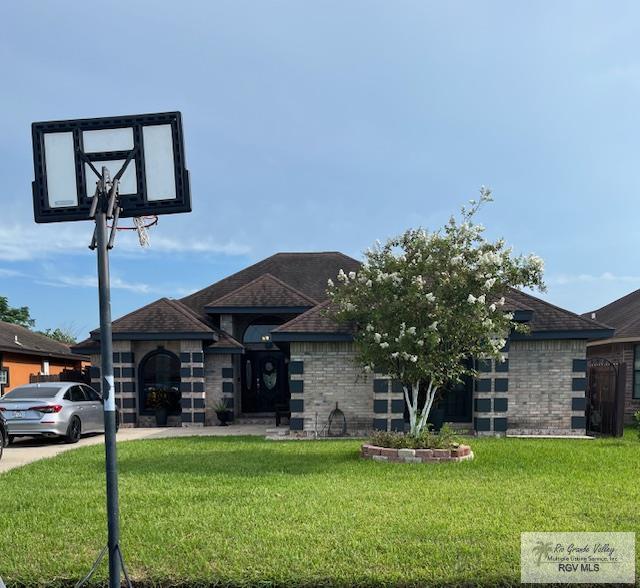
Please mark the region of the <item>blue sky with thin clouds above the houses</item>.
<svg viewBox="0 0 640 588"><path fill-rule="evenodd" d="M584 312L640 287L634 2L0 5L0 295L97 325L90 223L35 225L30 123L183 113L193 213L112 256L114 316L276 251L359 256L480 185Z"/></svg>

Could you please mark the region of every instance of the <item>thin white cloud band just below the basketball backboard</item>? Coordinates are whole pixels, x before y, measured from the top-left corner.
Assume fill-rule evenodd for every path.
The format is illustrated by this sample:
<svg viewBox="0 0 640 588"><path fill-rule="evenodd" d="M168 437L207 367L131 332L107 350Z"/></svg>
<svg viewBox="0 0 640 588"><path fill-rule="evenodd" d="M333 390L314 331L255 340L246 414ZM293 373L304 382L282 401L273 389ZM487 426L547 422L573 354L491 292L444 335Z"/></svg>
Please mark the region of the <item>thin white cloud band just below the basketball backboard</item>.
<svg viewBox="0 0 640 588"><path fill-rule="evenodd" d="M0 227L0 260L28 261L46 259L59 253L85 253L92 231L90 223ZM244 255L250 251L247 245L234 241L220 243L210 238L164 237L154 233L150 232L151 252ZM124 252L139 251L135 231L120 232L116 248Z"/></svg>

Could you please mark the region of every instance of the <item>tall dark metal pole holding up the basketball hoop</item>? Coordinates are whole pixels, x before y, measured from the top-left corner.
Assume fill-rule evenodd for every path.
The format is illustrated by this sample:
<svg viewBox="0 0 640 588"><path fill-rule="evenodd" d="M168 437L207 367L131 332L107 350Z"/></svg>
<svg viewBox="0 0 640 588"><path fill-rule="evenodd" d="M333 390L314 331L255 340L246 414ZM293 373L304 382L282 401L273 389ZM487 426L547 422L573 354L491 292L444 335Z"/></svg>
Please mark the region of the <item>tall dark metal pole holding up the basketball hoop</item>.
<svg viewBox="0 0 640 588"><path fill-rule="evenodd" d="M111 286L109 278L109 249L113 247L113 235L119 216L118 182L124 173L129 158L122 169L111 180L106 167L97 182L97 189L91 212L95 213L96 228L90 248L97 249L98 257L98 299L100 304L100 367L102 399L104 402L104 447L107 479L107 546L100 552L89 574L76 588L84 585L93 575L105 554L109 557L109 588L120 588L120 578L124 572L129 586L131 582L124 565L120 549L120 519L118 504L118 460L116 449L116 402L113 384L113 341L111 330ZM94 169L97 173L97 170ZM107 217L112 217L112 234L107 233Z"/></svg>

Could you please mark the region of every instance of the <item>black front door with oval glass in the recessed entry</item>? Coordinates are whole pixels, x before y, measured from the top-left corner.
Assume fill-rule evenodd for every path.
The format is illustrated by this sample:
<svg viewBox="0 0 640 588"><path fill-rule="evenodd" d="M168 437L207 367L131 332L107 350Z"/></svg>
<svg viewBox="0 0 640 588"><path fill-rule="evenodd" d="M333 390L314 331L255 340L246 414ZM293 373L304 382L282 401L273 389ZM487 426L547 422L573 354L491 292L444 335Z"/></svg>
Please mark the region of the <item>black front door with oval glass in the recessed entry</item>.
<svg viewBox="0 0 640 588"><path fill-rule="evenodd" d="M249 351L242 385L243 413L272 413L287 402L288 382L281 351Z"/></svg>

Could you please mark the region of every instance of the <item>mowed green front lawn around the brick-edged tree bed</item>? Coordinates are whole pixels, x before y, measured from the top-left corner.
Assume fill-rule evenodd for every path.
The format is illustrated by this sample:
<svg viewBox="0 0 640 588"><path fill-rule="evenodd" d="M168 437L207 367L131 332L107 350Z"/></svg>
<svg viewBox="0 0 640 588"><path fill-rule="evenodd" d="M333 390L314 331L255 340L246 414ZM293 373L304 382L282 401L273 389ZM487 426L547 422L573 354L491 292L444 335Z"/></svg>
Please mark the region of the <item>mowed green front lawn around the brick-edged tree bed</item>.
<svg viewBox="0 0 640 588"><path fill-rule="evenodd" d="M640 530L634 432L471 445L473 462L414 465L362 461L355 441L121 443L129 569L152 586L509 585L522 531ZM106 536L102 448L3 474L0 490L0 576L79 579Z"/></svg>

